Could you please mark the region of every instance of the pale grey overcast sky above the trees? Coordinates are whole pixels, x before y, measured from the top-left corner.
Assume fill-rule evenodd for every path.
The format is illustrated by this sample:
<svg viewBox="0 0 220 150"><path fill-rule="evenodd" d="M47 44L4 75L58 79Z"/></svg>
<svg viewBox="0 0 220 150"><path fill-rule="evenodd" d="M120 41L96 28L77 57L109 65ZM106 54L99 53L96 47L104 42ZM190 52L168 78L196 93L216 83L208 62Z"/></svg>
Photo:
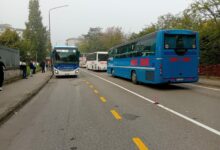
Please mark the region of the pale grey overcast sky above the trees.
<svg viewBox="0 0 220 150"><path fill-rule="evenodd" d="M48 27L48 10L69 5L51 12L53 44L64 44L70 37L88 32L89 27L122 27L126 33L138 32L167 13L179 13L193 0L40 0L43 23ZM0 24L8 23L25 28L29 0L0 0Z"/></svg>

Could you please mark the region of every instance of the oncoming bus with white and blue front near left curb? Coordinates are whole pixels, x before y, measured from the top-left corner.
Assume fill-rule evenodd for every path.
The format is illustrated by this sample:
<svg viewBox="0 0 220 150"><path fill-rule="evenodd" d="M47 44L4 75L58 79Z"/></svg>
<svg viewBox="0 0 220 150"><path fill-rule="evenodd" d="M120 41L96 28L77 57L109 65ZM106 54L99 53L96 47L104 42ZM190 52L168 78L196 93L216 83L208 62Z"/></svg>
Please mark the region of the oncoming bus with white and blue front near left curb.
<svg viewBox="0 0 220 150"><path fill-rule="evenodd" d="M53 74L55 76L77 76L80 53L75 46L55 46L52 51Z"/></svg>

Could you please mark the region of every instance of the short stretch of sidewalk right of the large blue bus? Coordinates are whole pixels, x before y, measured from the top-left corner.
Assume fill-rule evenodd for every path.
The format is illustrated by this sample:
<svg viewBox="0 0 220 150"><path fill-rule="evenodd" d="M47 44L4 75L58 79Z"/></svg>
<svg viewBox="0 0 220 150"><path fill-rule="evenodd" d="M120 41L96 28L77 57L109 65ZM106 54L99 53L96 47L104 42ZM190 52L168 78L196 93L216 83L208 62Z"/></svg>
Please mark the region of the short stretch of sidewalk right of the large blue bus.
<svg viewBox="0 0 220 150"><path fill-rule="evenodd" d="M198 84L220 88L220 78L200 77Z"/></svg>

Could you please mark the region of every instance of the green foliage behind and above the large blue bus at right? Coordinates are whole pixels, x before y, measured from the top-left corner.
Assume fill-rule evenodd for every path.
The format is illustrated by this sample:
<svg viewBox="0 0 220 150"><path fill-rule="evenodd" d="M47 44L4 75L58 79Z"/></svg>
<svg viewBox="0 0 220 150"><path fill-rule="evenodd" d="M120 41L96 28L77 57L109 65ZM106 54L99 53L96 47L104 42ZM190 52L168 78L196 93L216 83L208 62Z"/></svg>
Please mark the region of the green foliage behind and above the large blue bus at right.
<svg viewBox="0 0 220 150"><path fill-rule="evenodd" d="M200 33L202 64L220 64L220 0L196 0L178 15L160 16L155 24L139 33L132 33L130 39L160 29L190 29Z"/></svg>

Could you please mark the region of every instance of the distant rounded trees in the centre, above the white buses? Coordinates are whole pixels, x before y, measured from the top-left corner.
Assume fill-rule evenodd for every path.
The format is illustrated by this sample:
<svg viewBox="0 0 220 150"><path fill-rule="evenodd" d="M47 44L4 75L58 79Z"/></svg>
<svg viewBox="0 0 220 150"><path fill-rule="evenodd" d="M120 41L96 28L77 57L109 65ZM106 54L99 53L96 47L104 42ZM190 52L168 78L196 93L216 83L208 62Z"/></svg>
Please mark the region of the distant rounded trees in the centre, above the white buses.
<svg viewBox="0 0 220 150"><path fill-rule="evenodd" d="M119 27L107 28L104 32L101 28L90 28L77 44L80 51L90 53L95 51L107 51L109 48L124 41L125 35Z"/></svg>

